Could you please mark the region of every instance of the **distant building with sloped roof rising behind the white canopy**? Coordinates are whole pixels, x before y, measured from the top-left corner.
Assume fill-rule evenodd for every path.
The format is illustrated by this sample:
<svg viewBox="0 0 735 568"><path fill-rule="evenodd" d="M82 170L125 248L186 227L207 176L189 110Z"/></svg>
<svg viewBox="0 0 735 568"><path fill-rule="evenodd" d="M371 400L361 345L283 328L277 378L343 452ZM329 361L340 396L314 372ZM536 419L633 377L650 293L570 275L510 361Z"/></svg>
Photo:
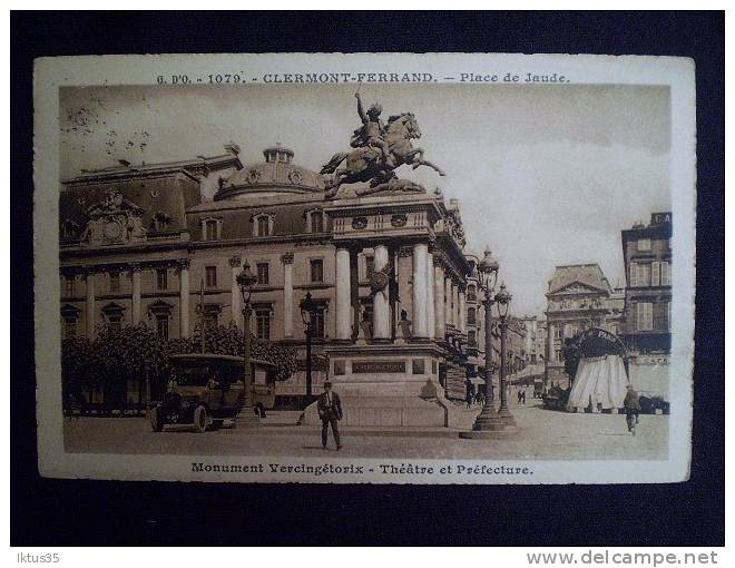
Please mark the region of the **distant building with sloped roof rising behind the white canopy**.
<svg viewBox="0 0 735 568"><path fill-rule="evenodd" d="M588 327L620 332L625 296L610 286L597 263L557 266L547 297L548 373L551 382L566 383L565 341Z"/></svg>

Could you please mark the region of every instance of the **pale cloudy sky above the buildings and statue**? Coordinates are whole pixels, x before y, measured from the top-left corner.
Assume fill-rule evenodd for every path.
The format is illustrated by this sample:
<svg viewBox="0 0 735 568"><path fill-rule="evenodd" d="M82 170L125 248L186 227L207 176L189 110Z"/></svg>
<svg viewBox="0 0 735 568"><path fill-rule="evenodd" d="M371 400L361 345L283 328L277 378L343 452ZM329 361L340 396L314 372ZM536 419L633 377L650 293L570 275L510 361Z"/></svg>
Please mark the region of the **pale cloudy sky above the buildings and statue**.
<svg viewBox="0 0 735 568"><path fill-rule="evenodd" d="M61 179L117 164L189 159L236 143L245 164L280 143L318 170L360 125L355 85L65 88ZM553 267L599 263L625 284L620 231L670 210L665 87L362 85L365 108L412 111L440 166L400 177L460 202L468 245L490 246L516 314L540 314Z"/></svg>

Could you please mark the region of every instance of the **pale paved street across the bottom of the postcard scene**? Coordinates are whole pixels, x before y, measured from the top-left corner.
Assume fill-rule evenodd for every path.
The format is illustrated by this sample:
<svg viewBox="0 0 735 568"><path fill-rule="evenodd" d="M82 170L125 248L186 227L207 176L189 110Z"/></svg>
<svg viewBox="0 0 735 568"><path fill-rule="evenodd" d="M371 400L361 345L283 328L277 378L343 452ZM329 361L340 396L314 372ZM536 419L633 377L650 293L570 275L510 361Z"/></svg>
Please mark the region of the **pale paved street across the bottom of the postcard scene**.
<svg viewBox="0 0 735 568"><path fill-rule="evenodd" d="M643 415L638 433L627 432L624 415L570 414L547 411L537 401L511 407L520 431L513 440L460 440L447 429L418 435L343 429L340 458L414 459L666 459L668 417ZM479 409L478 409L479 412ZM386 434L391 435L386 435ZM378 435L381 434L381 435ZM427 437L431 435L431 437ZM82 418L65 422L70 452L151 454L252 454L287 457L337 456L321 447L318 427L264 427L258 431L223 429L194 433L186 429L153 432L141 418Z"/></svg>

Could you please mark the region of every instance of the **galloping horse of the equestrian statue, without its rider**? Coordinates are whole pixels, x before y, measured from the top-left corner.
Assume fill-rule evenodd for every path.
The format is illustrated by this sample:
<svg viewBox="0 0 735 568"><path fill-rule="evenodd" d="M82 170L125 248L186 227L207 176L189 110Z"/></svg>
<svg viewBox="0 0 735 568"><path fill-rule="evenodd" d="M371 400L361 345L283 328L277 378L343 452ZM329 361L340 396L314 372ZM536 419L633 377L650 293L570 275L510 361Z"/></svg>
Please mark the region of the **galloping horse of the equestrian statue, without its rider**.
<svg viewBox="0 0 735 568"><path fill-rule="evenodd" d="M395 178L393 172L404 164L413 169L419 166L429 166L440 176L444 173L434 164L423 158L423 148L414 148L412 139L421 138L421 130L413 112L395 115L388 119L383 131L383 139L388 144L394 167L390 167L381 159L379 148L366 146L352 151L339 151L332 159L322 167L320 174L334 174L334 177L325 184L326 196L334 197L342 184L354 184L357 182L369 182L370 187L375 187ZM345 161L343 168L340 164Z"/></svg>

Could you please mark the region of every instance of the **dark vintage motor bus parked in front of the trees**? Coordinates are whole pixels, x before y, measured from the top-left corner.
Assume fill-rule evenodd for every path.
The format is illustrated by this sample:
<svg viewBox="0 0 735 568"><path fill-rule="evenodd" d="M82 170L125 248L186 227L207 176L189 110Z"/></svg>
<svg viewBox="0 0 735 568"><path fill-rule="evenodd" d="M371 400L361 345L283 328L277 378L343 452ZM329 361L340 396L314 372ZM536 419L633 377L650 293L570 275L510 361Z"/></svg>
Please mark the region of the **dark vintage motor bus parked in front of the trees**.
<svg viewBox="0 0 735 568"><path fill-rule="evenodd" d="M273 407L275 386L270 381L271 363L252 360L253 404L263 414ZM243 400L243 358L210 353L171 355L170 374L163 400L148 409L150 427L160 432L166 424L192 424L197 432L220 428L234 418Z"/></svg>

